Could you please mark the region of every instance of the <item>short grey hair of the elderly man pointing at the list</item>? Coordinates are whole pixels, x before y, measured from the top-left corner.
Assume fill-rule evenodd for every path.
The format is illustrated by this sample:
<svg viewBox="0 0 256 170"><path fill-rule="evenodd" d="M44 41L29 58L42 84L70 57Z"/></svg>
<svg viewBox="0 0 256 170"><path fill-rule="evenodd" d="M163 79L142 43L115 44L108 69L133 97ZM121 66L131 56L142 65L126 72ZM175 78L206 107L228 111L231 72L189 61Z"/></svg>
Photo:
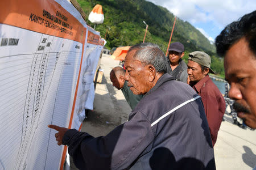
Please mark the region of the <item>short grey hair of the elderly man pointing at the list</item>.
<svg viewBox="0 0 256 170"><path fill-rule="evenodd" d="M158 73L167 72L167 59L158 45L146 42L131 46L128 52L131 50L137 50L133 59L138 59L146 65L153 65Z"/></svg>

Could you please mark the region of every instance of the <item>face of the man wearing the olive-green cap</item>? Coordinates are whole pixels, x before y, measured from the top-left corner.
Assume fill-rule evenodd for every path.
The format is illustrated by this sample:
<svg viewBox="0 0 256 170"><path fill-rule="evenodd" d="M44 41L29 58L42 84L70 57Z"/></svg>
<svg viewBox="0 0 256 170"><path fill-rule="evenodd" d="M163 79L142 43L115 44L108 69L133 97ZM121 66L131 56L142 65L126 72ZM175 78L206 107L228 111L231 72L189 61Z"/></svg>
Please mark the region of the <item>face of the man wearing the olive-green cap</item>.
<svg viewBox="0 0 256 170"><path fill-rule="evenodd" d="M191 82L199 82L205 77L201 65L195 61L188 60L188 76Z"/></svg>

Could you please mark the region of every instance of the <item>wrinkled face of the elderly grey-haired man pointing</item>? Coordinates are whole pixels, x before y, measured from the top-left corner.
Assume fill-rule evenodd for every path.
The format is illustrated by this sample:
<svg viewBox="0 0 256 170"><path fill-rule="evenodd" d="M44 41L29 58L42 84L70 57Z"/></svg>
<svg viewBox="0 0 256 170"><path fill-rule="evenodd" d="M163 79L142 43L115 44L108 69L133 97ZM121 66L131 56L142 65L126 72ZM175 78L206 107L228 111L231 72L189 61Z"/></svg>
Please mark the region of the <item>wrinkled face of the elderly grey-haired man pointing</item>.
<svg viewBox="0 0 256 170"><path fill-rule="evenodd" d="M149 73L141 61L133 59L135 52L136 50L131 50L125 57L125 80L134 95L143 95L151 89L148 82Z"/></svg>

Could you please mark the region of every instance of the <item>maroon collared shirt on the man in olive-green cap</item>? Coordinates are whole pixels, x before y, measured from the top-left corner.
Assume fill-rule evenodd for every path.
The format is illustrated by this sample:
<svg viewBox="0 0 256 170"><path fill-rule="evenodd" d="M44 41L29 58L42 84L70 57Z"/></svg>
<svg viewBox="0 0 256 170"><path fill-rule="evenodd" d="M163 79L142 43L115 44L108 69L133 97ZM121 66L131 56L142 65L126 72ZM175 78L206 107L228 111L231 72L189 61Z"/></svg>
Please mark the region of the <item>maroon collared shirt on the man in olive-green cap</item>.
<svg viewBox="0 0 256 170"><path fill-rule="evenodd" d="M202 97L204 111L210 128L213 146L217 141L218 130L225 113L225 100L209 75L197 82L193 89Z"/></svg>

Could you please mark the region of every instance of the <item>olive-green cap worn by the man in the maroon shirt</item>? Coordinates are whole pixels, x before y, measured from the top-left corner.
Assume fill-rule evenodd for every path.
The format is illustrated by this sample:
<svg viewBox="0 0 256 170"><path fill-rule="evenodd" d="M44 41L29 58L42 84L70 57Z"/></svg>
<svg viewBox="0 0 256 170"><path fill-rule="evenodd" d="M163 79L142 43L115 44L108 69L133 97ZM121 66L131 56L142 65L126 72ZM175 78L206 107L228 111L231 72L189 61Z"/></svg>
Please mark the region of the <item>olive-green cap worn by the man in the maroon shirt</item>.
<svg viewBox="0 0 256 170"><path fill-rule="evenodd" d="M210 56L205 53L205 52L200 52L200 51L196 51L196 52L192 52L190 54L188 54L188 60L194 61L196 63L199 63L202 66L208 67L209 68L209 72L212 74L215 74L212 69L210 69Z"/></svg>

